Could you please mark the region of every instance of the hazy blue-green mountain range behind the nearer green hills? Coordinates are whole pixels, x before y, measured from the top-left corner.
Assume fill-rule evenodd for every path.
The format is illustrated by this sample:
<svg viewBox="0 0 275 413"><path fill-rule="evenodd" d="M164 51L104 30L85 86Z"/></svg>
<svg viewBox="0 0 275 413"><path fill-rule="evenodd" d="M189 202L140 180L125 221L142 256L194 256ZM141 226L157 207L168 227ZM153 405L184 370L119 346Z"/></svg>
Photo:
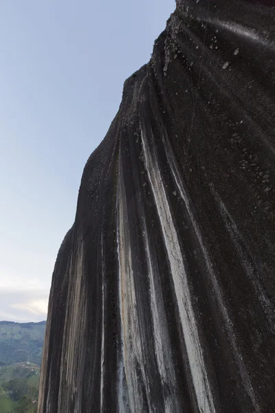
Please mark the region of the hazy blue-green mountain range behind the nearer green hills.
<svg viewBox="0 0 275 413"><path fill-rule="evenodd" d="M41 365L46 321L0 321L0 366L30 362Z"/></svg>

